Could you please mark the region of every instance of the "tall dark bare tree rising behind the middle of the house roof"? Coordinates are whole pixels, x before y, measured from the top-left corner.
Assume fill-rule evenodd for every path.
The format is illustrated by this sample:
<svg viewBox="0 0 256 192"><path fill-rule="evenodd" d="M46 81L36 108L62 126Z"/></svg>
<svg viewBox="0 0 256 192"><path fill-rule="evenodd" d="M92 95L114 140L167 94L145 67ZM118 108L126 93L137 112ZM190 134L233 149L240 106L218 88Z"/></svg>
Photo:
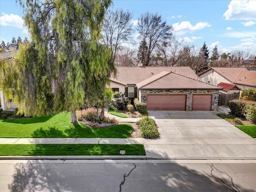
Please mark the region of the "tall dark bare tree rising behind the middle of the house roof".
<svg viewBox="0 0 256 192"><path fill-rule="evenodd" d="M139 39L146 42L148 47L144 62L144 65L148 66L156 47L172 38L172 26L166 24L166 21L162 21L162 17L157 13L146 12L138 18L137 30L140 34Z"/></svg>

